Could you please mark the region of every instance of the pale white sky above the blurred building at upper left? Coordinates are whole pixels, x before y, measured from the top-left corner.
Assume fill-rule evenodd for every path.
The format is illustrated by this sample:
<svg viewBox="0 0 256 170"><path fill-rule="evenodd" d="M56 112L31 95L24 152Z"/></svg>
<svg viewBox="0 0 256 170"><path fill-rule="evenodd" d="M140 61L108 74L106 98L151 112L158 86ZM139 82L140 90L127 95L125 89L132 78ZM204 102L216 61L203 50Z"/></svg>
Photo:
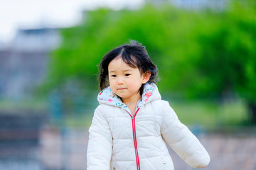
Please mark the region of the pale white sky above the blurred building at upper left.
<svg viewBox="0 0 256 170"><path fill-rule="evenodd" d="M144 0L0 0L0 42L14 38L18 28L61 28L79 23L83 9L100 6L138 8Z"/></svg>

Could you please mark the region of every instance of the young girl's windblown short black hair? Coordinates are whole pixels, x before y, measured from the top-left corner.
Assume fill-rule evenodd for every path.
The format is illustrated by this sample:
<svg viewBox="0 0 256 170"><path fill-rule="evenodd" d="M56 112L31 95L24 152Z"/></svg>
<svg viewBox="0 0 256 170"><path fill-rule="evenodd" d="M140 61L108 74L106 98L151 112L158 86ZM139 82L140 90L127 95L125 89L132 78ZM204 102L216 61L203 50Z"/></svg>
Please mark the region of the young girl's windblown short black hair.
<svg viewBox="0 0 256 170"><path fill-rule="evenodd" d="M150 72L151 76L147 83L156 83L156 77L158 76L158 69L156 65L150 60L149 54L146 51L146 47L142 46L139 42L131 40L129 44L121 45L114 48L114 50L107 53L100 62L100 89L105 89L109 86L108 81L108 65L115 57L121 56L122 60L129 64L130 67L138 68L141 74ZM142 95L143 86L139 89Z"/></svg>

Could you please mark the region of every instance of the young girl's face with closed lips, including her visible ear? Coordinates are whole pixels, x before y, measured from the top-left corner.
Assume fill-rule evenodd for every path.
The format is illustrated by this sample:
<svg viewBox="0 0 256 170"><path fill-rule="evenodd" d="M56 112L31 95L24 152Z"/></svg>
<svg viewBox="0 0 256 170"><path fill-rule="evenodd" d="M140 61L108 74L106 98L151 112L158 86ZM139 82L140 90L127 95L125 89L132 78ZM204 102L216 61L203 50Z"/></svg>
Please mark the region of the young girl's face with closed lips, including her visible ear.
<svg viewBox="0 0 256 170"><path fill-rule="evenodd" d="M130 67L122 57L116 57L108 65L110 88L122 101L139 100L139 89L149 80L149 74L141 74L138 68Z"/></svg>

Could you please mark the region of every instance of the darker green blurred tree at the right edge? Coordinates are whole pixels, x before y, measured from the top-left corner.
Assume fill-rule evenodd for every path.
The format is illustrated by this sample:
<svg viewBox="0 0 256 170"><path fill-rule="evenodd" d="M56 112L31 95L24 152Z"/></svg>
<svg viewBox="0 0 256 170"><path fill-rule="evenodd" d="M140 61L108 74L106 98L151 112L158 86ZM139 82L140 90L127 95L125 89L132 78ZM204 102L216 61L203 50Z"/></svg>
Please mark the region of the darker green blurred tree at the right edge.
<svg viewBox="0 0 256 170"><path fill-rule="evenodd" d="M256 123L256 6L254 1L235 1L221 13L205 13L198 23L192 95L245 98ZM214 92L214 93L212 93Z"/></svg>

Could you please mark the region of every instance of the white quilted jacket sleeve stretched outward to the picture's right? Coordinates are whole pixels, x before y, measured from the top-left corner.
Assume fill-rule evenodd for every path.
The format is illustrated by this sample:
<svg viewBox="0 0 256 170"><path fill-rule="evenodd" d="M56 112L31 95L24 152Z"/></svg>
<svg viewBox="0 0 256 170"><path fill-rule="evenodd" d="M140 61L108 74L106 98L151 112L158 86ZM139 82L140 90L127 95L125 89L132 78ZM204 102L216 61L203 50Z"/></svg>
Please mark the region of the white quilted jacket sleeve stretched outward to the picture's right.
<svg viewBox="0 0 256 170"><path fill-rule="evenodd" d="M201 142L183 125L169 103L163 101L161 135L172 149L193 168L208 166L210 156Z"/></svg>

